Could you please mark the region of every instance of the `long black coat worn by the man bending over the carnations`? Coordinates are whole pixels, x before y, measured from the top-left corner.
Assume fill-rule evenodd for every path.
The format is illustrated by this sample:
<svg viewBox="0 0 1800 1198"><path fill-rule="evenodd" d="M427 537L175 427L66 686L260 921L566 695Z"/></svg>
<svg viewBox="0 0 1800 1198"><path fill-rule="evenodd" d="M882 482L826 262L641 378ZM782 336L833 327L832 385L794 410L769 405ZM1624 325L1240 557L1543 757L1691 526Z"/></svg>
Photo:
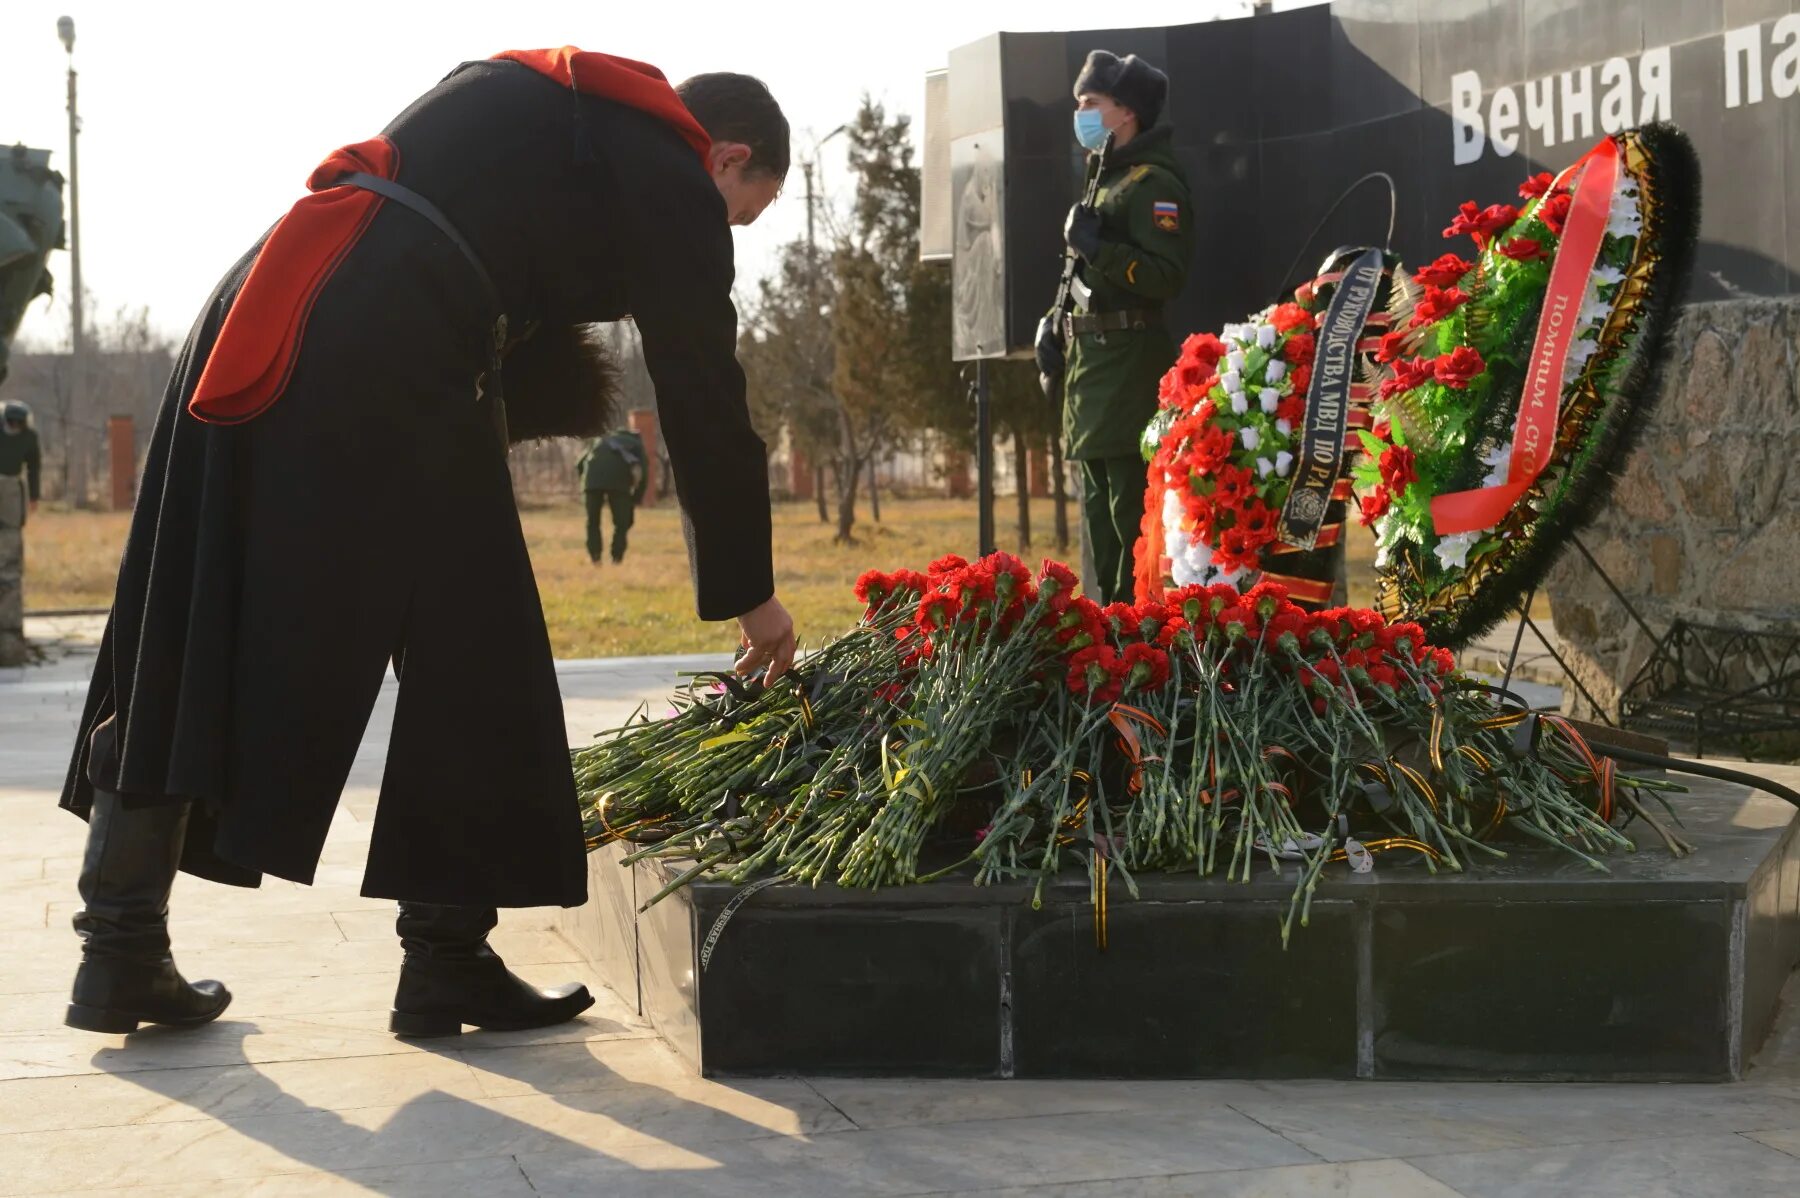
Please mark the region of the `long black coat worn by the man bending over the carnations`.
<svg viewBox="0 0 1800 1198"><path fill-rule="evenodd" d="M464 63L407 108L382 135L392 176L475 248L511 327L635 318L700 615L738 615L774 585L724 200L695 128L581 88L567 50L535 54ZM655 79L626 83L673 97ZM319 277L290 291L310 299L301 320L232 333L230 353L250 353L238 362L265 351L265 369L236 381L279 380L236 414L202 403L209 421L238 423L189 405L279 227L187 338L63 806L85 813L95 784L128 802L193 799L184 869L310 881L392 660L364 892L574 905L587 863L562 700L504 451L477 401L491 311L443 234L364 196L329 270L299 272ZM320 266L301 245L284 261ZM515 426L538 401L508 371Z"/></svg>

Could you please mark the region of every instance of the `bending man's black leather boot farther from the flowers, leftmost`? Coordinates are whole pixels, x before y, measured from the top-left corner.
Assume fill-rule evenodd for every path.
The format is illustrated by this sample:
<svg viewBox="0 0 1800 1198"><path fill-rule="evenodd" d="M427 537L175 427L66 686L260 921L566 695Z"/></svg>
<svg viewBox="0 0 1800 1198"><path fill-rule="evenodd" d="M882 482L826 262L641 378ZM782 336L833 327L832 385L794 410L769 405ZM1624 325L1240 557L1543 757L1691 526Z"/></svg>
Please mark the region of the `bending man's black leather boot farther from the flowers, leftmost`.
<svg viewBox="0 0 1800 1198"><path fill-rule="evenodd" d="M70 1027L198 1027L230 1006L221 982L189 982L169 955L169 890L185 833L185 802L128 808L119 795L94 793L74 917L81 966L63 1016Z"/></svg>

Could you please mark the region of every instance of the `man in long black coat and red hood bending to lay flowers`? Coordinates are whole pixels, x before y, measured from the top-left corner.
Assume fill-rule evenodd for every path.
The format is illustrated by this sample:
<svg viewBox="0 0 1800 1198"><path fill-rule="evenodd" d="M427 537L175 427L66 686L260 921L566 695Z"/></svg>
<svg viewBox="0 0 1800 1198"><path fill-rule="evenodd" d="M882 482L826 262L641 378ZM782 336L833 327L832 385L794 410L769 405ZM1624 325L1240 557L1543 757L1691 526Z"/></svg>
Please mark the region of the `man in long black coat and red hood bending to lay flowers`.
<svg viewBox="0 0 1800 1198"><path fill-rule="evenodd" d="M63 806L88 818L68 1024L194 1025L230 995L169 955L178 869L310 883L392 662L362 892L400 899L392 1029L540 1027L592 1004L486 943L578 905L562 698L506 443L610 426L585 324L637 322L702 619L794 655L736 363L731 227L788 126L747 76L671 88L572 47L464 63L331 155L225 275L169 380Z"/></svg>

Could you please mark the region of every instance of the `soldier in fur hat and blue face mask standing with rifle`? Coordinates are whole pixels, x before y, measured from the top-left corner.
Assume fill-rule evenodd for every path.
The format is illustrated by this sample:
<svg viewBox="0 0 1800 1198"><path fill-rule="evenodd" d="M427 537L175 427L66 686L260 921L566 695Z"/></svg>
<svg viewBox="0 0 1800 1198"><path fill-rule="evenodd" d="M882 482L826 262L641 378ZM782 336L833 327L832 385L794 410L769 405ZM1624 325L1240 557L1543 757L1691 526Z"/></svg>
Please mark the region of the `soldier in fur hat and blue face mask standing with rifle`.
<svg viewBox="0 0 1800 1198"><path fill-rule="evenodd" d="M1175 162L1174 130L1156 121L1168 76L1136 54L1087 56L1075 79L1075 139L1091 153L1112 135L1094 207L1064 223L1082 268L1075 311L1039 324L1037 363L1064 374L1062 432L1082 464L1082 509L1103 603L1132 597L1132 547L1143 522L1138 434L1175 363L1163 302L1181 291L1193 254L1193 201ZM1060 327L1058 327L1060 326Z"/></svg>

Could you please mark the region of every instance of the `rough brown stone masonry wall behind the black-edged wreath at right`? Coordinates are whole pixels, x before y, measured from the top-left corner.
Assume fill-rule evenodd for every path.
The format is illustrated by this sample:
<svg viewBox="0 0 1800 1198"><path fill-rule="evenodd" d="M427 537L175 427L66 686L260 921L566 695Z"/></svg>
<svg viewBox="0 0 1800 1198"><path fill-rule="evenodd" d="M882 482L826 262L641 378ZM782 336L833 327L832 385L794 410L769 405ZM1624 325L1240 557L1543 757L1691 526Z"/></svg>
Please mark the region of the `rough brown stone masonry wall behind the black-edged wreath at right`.
<svg viewBox="0 0 1800 1198"><path fill-rule="evenodd" d="M1683 309L1649 414L1582 543L1658 633L1800 628L1800 300ZM1607 709L1649 637L1568 549L1548 579L1570 664ZM1573 687L1570 711L1588 714Z"/></svg>

